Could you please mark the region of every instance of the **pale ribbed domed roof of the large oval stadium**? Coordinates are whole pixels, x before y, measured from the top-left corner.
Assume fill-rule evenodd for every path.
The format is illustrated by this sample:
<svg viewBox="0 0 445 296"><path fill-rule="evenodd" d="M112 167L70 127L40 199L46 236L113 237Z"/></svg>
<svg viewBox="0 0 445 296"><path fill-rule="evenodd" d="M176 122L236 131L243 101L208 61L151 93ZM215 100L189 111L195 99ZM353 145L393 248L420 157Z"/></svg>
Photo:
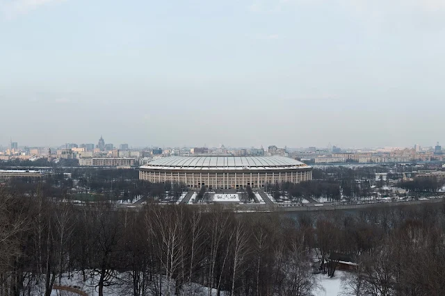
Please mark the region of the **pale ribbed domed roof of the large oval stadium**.
<svg viewBox="0 0 445 296"><path fill-rule="evenodd" d="M142 169L157 170L283 170L309 167L284 156L170 156L156 159Z"/></svg>

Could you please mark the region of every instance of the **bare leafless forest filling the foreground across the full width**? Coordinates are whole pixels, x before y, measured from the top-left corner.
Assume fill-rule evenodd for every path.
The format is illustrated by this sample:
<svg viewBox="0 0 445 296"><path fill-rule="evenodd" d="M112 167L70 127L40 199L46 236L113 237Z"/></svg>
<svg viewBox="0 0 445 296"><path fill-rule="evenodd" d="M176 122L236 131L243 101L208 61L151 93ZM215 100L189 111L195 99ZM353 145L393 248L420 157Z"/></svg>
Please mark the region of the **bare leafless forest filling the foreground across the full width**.
<svg viewBox="0 0 445 296"><path fill-rule="evenodd" d="M3 186L0 242L8 296L36 295L36 286L49 296L75 273L97 279L100 296L309 296L314 274L336 276L338 254L355 263L346 295L445 295L444 204L298 216L151 204L113 211Z"/></svg>

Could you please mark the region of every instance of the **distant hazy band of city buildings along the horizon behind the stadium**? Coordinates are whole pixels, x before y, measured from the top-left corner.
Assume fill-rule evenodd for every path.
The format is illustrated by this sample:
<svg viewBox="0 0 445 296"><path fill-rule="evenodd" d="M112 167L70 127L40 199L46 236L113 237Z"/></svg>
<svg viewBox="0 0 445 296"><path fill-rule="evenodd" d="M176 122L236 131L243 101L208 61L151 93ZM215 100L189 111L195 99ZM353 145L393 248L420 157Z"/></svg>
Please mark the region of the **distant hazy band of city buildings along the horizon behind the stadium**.
<svg viewBox="0 0 445 296"><path fill-rule="evenodd" d="M102 135L97 144L66 143L59 147L28 147L10 141L0 146L0 161L37 161L45 158L51 163L72 160L72 165L90 167L135 167L167 156L285 156L309 165L334 163L402 163L444 161L439 142L435 146L381 147L350 149L332 147L287 148L268 147L145 147L131 148L129 144L106 143Z"/></svg>

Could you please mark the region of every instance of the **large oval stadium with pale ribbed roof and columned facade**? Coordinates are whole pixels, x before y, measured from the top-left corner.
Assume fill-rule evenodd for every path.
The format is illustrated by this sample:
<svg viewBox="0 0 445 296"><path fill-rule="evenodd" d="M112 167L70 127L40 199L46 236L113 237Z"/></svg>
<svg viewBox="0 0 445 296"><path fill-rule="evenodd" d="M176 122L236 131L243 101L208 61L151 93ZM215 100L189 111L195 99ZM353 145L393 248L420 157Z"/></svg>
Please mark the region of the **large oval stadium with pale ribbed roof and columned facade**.
<svg viewBox="0 0 445 296"><path fill-rule="evenodd" d="M312 180L312 167L283 156L170 156L140 167L139 179L188 188L263 188Z"/></svg>

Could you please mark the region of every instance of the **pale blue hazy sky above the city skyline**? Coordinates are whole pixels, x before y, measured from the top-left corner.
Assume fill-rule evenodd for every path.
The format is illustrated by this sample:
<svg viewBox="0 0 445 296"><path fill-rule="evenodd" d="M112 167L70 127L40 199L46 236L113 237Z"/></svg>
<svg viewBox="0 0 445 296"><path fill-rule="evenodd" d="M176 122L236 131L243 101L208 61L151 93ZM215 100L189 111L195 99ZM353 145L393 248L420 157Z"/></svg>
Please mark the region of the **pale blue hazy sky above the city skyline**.
<svg viewBox="0 0 445 296"><path fill-rule="evenodd" d="M445 145L443 0L0 0L0 144Z"/></svg>

